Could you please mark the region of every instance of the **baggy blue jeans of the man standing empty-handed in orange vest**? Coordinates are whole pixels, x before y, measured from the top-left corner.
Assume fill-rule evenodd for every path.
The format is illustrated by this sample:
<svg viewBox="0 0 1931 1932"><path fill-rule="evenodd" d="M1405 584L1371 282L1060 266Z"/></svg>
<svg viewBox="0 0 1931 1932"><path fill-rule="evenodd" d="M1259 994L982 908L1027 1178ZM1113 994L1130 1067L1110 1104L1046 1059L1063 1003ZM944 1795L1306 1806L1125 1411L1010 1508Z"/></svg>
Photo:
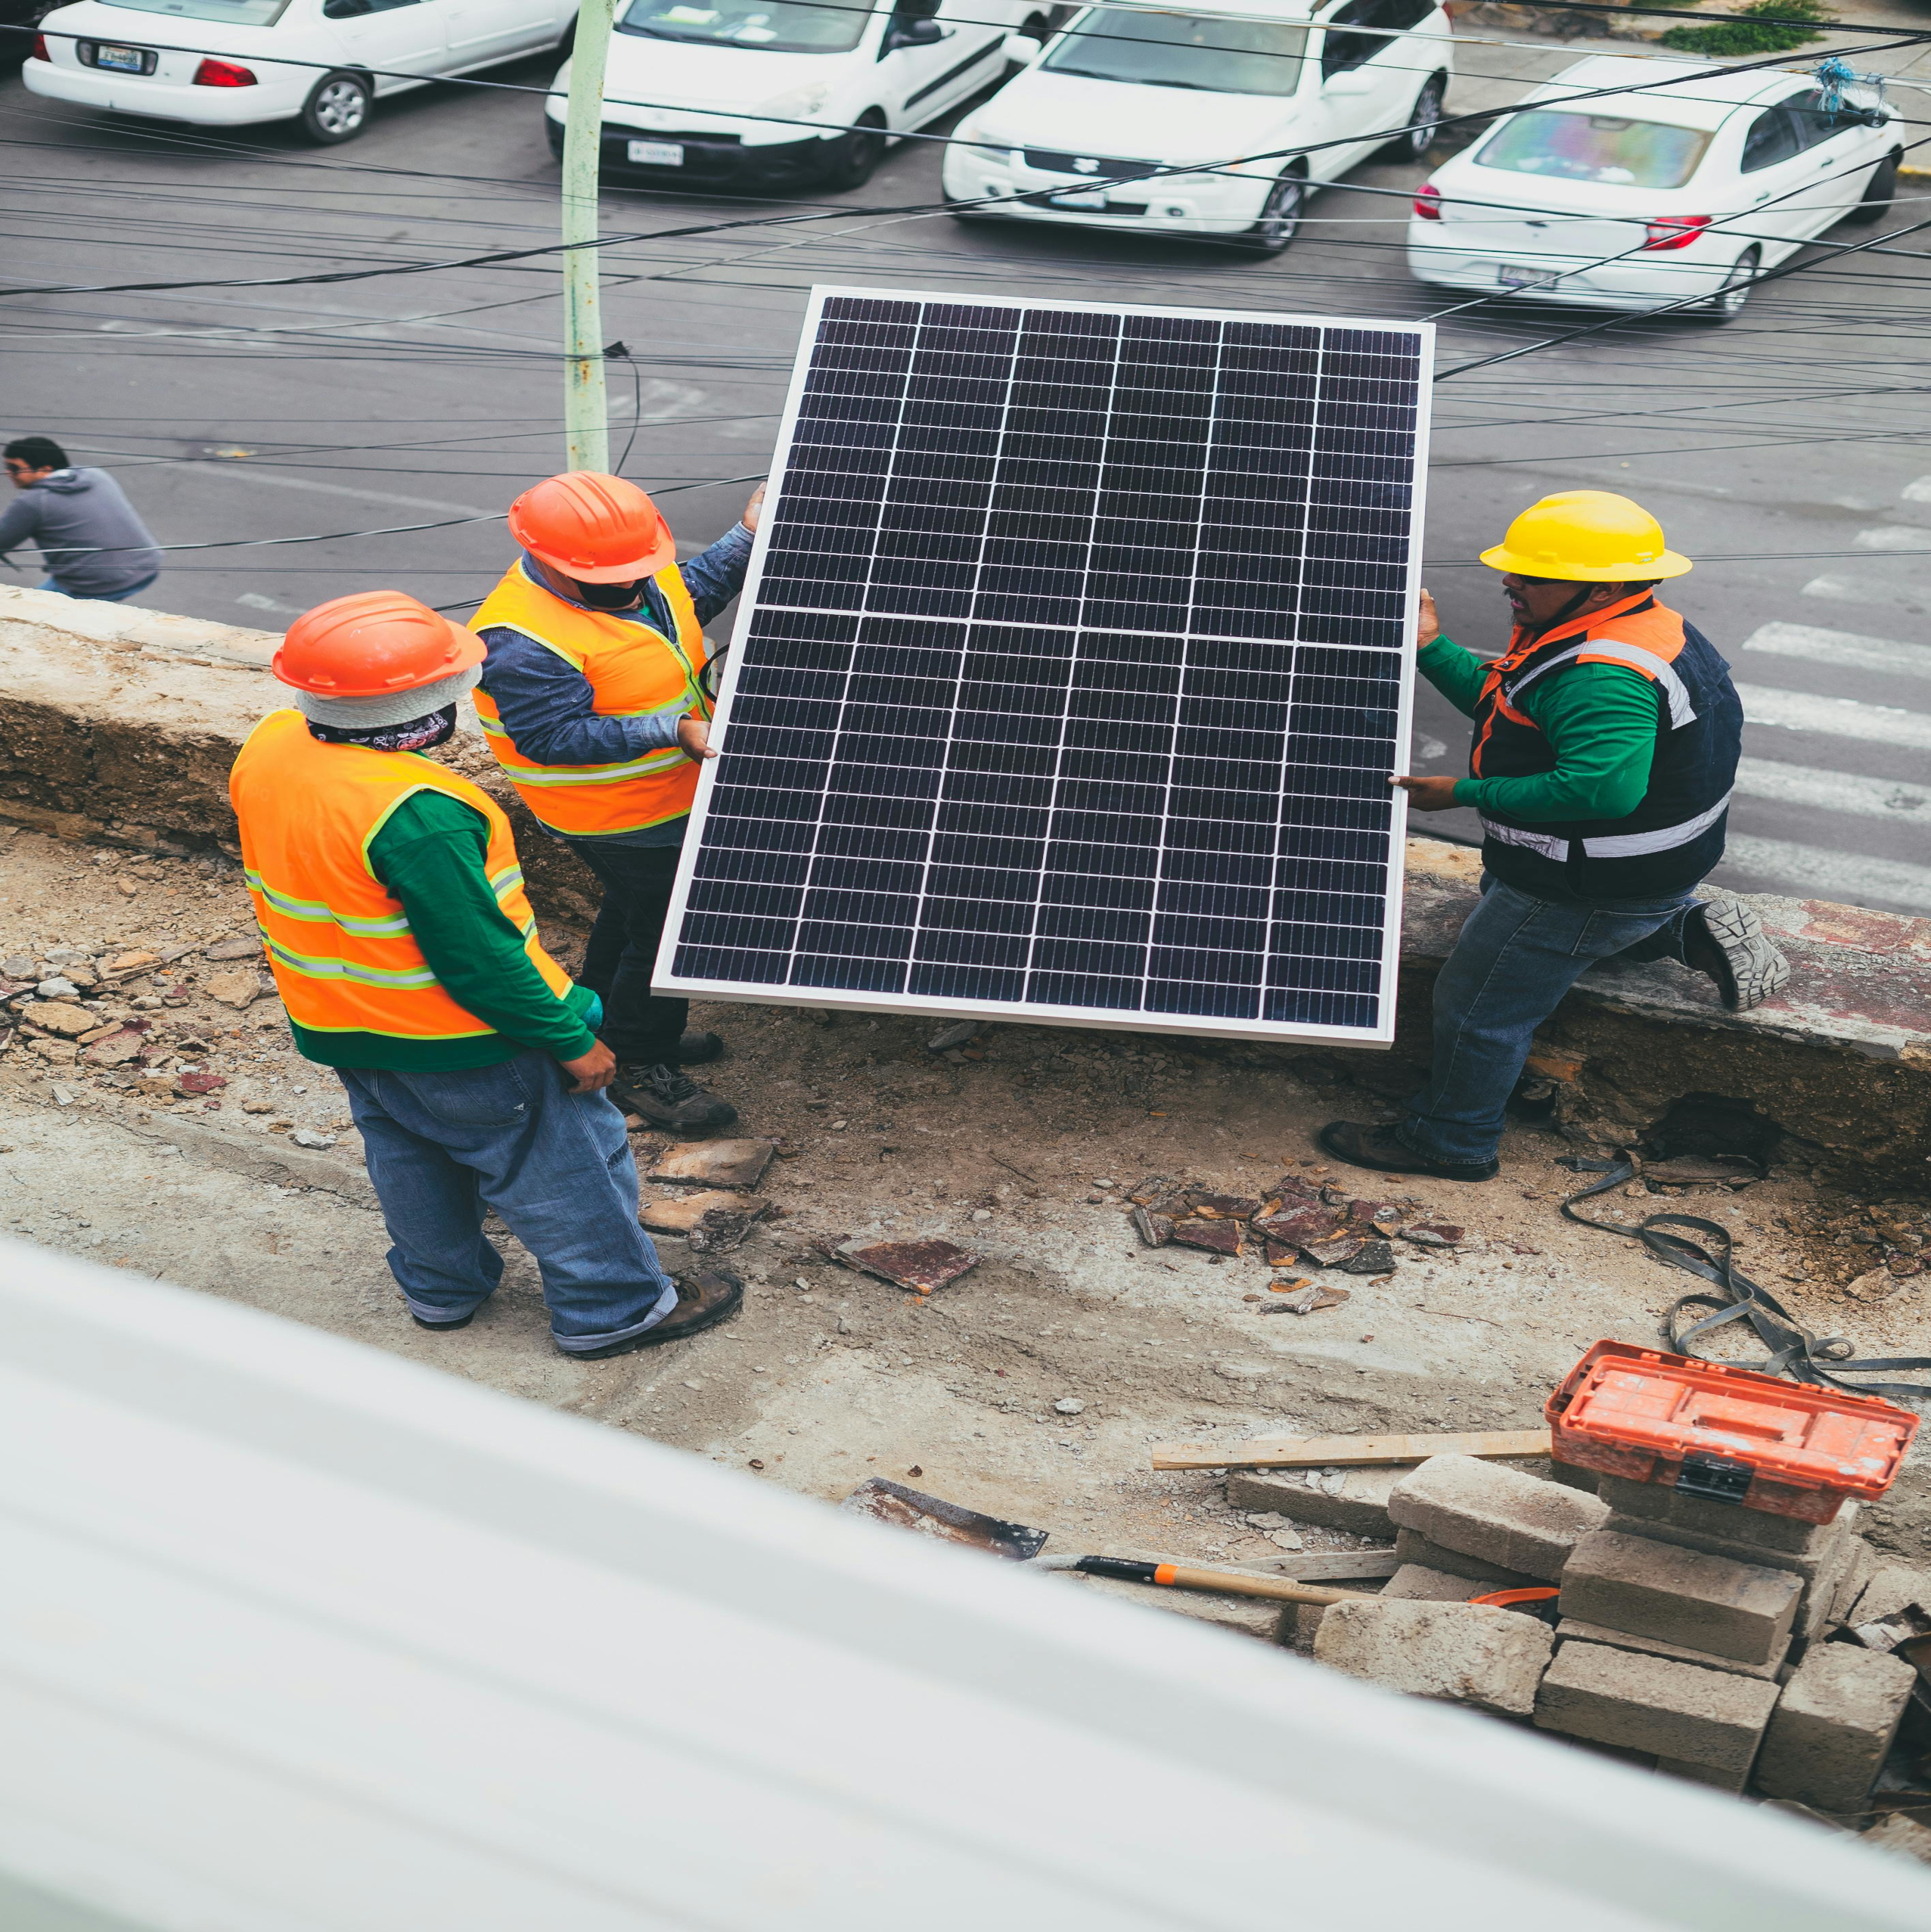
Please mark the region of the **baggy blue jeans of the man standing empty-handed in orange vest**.
<svg viewBox="0 0 1931 1932"><path fill-rule="evenodd" d="M462 1321L494 1293L502 1256L483 1209L537 1258L550 1335L583 1354L678 1306L637 1225L637 1163L602 1094L572 1094L546 1053L452 1074L338 1066L394 1246L409 1314Z"/></svg>

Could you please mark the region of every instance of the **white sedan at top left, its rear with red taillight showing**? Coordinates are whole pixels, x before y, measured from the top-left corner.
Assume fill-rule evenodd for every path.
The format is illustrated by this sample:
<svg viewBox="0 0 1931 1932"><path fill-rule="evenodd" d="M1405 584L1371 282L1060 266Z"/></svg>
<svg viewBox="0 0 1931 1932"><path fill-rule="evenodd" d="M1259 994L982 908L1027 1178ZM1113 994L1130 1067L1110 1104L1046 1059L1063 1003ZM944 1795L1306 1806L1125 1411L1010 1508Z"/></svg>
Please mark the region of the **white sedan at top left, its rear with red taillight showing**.
<svg viewBox="0 0 1931 1932"><path fill-rule="evenodd" d="M568 41L575 0L77 0L41 21L27 91L118 114L348 141L369 104Z"/></svg>

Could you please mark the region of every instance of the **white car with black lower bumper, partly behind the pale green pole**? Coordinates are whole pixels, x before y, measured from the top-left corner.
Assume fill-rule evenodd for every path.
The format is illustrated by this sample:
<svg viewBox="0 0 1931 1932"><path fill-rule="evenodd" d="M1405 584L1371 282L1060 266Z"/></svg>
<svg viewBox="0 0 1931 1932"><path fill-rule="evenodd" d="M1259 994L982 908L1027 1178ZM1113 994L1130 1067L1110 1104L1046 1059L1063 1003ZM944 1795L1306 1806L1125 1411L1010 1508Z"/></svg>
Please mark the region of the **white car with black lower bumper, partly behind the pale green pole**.
<svg viewBox="0 0 1931 1932"><path fill-rule="evenodd" d="M602 164L691 187L859 187L894 135L1004 79L1050 0L618 0ZM570 68L546 102L564 151Z"/></svg>

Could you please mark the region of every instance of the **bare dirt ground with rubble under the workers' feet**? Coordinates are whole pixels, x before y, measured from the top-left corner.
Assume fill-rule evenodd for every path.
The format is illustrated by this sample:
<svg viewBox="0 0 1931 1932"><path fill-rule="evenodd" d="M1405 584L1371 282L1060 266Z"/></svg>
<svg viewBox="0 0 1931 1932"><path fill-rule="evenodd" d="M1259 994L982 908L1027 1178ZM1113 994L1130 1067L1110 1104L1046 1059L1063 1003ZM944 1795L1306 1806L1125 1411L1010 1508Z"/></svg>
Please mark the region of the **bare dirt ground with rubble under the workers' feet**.
<svg viewBox="0 0 1931 1932"><path fill-rule="evenodd" d="M662 1350L564 1360L533 1264L496 1231L502 1291L469 1329L431 1337L384 1267L334 1078L294 1053L272 993L245 1007L210 993L247 997L236 974L259 960L207 951L234 954L251 937L226 862L0 827L0 960L66 974L102 1028L149 1022L145 1059L118 1066L91 1066L87 1045L70 1061L25 1032L0 1053L0 1235L272 1310L819 1497L886 1474L1043 1526L1054 1549L1282 1561L1278 1530L1230 1511L1211 1474L1153 1474L1147 1445L1533 1424L1591 1341L1657 1339L1668 1302L1693 1287L1634 1242L1562 1221L1560 1198L1580 1184L1556 1165L1570 1144L1512 1128L1485 1186L1371 1188L1336 1169L1468 1236L1437 1252L1396 1242L1392 1275L1332 1277L1344 1306L1263 1320L1261 1260L1141 1248L1126 1190L1147 1175L1240 1194L1284 1171L1327 1179L1311 1136L1334 1117L1390 1117L1385 1059L1253 1066L1205 1041L1033 1026L987 1028L938 1055L927 1039L944 1022L709 1007L697 1022L730 1051L707 1076L738 1105L740 1132L774 1138L780 1155L763 1184L778 1211L730 1256L751 1291L743 1316ZM575 935L552 937L572 956ZM158 966L81 983L112 980L108 966L137 951ZM12 1003L0 1032L33 1012L19 991L0 999ZM174 1097L197 1084L183 1070L216 1084ZM1612 1206L1634 1217L1670 1204ZM1778 1171L1676 1206L1728 1225L1740 1265L1811 1327L1848 1331L1867 1354L1923 1347L1931 1273L1871 1287L1881 1252L1912 1265L1931 1233L1921 1204L1833 1196ZM921 1302L817 1246L861 1233L937 1235L983 1260ZM672 1271L684 1265L682 1242L662 1248ZM1307 1551L1352 1542L1301 1538Z"/></svg>

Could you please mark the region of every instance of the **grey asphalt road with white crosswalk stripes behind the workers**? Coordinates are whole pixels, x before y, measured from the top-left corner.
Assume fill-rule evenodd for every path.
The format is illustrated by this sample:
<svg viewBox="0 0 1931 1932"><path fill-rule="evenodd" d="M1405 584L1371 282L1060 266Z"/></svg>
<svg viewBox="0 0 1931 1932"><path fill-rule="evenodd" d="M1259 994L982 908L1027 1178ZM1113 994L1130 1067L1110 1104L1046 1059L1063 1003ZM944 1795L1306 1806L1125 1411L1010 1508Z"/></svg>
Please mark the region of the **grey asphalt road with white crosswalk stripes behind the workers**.
<svg viewBox="0 0 1931 1932"><path fill-rule="evenodd" d="M1527 79L1578 52L1489 60ZM546 77L546 62L490 75ZM1450 108L1487 106L1498 85L1464 83ZM353 272L556 234L537 93L431 87L332 151L286 128L110 120L14 77L0 112L14 286ZM960 224L935 211L927 143L900 147L867 189L803 205L614 187L604 232L655 238L606 249L606 336L631 352L612 367L616 448L630 442L626 473L666 493L687 549L722 533L749 489L724 479L769 460L811 282L1433 315L1450 303L1400 253L1400 191L1423 178L1357 168L1273 259ZM1931 182L1906 191L1923 199L1900 199L1887 230L1931 214ZM801 209L830 218L770 220ZM757 226L666 234L724 222ZM1618 321L1466 375L1450 371L1605 317L1458 305L1441 325L1427 582L1448 634L1495 649L1504 612L1475 553L1516 508L1580 485L1647 500L1701 558L1674 603L1746 692L1719 881L1931 914L1931 242L1809 259L1726 328ZM263 628L378 583L460 605L506 562L492 518L562 464L558 336L554 257L319 288L17 296L0 303L0 429L114 468L162 543L212 545L174 553L143 603ZM375 533L425 524L442 527ZM261 545L315 535L330 541ZM1458 769L1464 744L1466 721L1423 686L1413 769ZM1477 837L1468 811L1419 823Z"/></svg>

